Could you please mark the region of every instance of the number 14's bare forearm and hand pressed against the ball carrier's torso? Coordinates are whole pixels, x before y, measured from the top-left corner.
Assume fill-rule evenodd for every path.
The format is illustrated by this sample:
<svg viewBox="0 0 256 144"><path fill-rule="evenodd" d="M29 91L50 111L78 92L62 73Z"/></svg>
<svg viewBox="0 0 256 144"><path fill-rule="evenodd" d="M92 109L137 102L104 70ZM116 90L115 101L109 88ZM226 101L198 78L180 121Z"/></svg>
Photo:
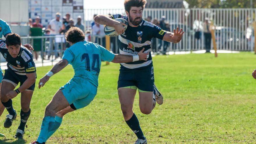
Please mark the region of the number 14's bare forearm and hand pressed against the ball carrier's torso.
<svg viewBox="0 0 256 144"><path fill-rule="evenodd" d="M138 52L138 56L139 56L139 61L147 61L147 55L149 54L149 52L147 53L143 53L144 48ZM123 54L116 54L114 59L111 61L113 63L129 63L129 62L133 62L134 58L133 56L128 56L128 55L123 55Z"/></svg>

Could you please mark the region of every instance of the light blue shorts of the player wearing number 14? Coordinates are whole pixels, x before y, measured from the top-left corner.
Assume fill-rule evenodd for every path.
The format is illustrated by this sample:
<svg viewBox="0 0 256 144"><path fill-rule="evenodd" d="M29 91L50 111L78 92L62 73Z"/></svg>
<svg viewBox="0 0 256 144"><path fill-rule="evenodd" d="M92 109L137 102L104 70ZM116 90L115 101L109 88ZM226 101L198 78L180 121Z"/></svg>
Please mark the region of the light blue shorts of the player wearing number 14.
<svg viewBox="0 0 256 144"><path fill-rule="evenodd" d="M86 107L97 94L97 87L86 79L74 77L60 88L69 104L76 109Z"/></svg>

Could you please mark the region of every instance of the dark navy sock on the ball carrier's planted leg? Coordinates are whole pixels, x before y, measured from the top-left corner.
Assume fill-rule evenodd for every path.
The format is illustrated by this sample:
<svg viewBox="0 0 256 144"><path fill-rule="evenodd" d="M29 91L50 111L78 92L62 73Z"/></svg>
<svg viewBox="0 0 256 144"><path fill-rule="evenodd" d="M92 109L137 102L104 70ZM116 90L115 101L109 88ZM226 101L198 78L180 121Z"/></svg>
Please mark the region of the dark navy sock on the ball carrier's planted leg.
<svg viewBox="0 0 256 144"><path fill-rule="evenodd" d="M136 117L135 113L133 113L132 117L125 122L127 123L127 125L131 128L131 130L136 134L136 136L139 139L145 140L145 137L144 137L143 132L140 127L139 120Z"/></svg>

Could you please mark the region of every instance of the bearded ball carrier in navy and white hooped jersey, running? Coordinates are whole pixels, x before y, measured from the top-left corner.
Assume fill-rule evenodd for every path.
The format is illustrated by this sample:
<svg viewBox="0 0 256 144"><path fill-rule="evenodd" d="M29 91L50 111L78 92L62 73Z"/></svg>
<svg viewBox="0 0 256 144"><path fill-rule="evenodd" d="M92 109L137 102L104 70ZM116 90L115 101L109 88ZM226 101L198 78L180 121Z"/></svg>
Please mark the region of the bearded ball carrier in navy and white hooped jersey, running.
<svg viewBox="0 0 256 144"><path fill-rule="evenodd" d="M135 55L142 48L145 48L144 52L149 52L152 38L159 38L173 43L177 43L182 39L184 33L182 29L179 30L177 27L174 33L171 33L142 19L146 2L146 0L125 0L124 5L127 16L116 14L95 17L95 22L112 26L120 34L118 36L120 54ZM115 21L114 19L116 18L123 18L128 21L126 30L123 28L125 24ZM135 143L146 144L147 140L143 135L136 115L132 111L137 88L140 97L139 106L142 113L151 113L155 106L154 97L158 104L163 103L163 97L154 85L151 54L149 54L147 61L121 63L118 78L118 95L125 121L138 137Z"/></svg>

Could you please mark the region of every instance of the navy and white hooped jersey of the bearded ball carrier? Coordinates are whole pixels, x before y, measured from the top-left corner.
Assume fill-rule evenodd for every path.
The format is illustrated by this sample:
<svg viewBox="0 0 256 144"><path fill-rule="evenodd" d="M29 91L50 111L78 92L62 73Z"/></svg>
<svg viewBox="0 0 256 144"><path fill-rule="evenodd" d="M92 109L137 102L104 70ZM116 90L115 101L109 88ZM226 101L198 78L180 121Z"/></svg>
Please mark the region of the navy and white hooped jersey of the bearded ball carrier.
<svg viewBox="0 0 256 144"><path fill-rule="evenodd" d="M125 15L115 14L111 15L113 19L123 18L128 21L128 17ZM125 55L136 55L141 49L145 48L144 52L151 51L151 40L152 38L163 39L166 31L160 27L152 24L151 22L142 20L141 24L137 27L131 27L128 25L125 33L118 36L119 41L119 52ZM120 63L121 66L129 69L138 67L145 67L152 63L152 57L149 53L147 61L135 61L130 63Z"/></svg>

